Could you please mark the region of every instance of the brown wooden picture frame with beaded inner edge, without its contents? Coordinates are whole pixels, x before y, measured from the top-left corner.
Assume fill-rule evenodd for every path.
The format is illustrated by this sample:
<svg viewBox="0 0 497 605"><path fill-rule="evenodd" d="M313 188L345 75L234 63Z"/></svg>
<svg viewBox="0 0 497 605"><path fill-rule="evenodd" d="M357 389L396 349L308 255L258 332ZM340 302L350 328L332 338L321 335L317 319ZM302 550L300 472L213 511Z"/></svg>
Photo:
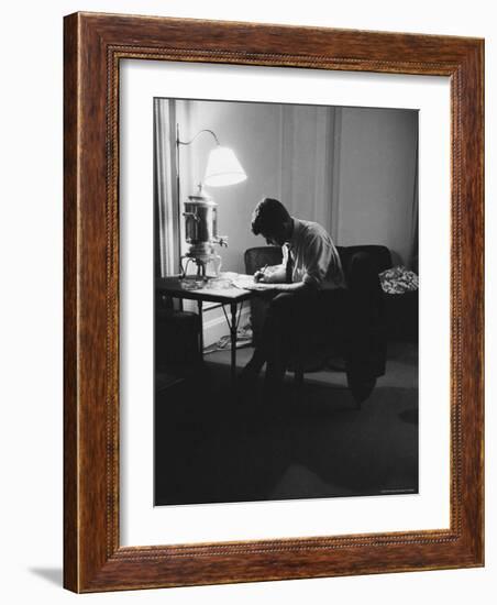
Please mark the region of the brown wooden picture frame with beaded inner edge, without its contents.
<svg viewBox="0 0 497 605"><path fill-rule="evenodd" d="M75 592L484 564L484 42L152 16L65 18L64 585ZM451 80L449 529L121 547L119 66L124 58Z"/></svg>

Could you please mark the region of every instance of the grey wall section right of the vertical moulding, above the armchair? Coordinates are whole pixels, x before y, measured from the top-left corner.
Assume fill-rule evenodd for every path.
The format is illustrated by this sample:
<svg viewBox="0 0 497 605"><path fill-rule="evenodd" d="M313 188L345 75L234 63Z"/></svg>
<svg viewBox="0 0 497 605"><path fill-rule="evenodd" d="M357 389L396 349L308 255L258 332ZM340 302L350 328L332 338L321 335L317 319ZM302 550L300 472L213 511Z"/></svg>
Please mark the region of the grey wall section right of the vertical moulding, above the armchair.
<svg viewBox="0 0 497 605"><path fill-rule="evenodd" d="M395 263L409 263L417 120L410 110L341 110L334 217L340 245L384 244Z"/></svg>

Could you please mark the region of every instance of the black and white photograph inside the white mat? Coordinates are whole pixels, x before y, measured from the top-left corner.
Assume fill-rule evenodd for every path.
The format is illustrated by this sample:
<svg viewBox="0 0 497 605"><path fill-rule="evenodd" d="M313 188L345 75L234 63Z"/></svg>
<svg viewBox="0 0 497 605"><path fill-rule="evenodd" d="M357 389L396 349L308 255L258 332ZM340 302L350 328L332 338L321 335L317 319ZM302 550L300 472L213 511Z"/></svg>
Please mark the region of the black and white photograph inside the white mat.
<svg viewBox="0 0 497 605"><path fill-rule="evenodd" d="M154 99L154 505L418 493L418 111Z"/></svg>

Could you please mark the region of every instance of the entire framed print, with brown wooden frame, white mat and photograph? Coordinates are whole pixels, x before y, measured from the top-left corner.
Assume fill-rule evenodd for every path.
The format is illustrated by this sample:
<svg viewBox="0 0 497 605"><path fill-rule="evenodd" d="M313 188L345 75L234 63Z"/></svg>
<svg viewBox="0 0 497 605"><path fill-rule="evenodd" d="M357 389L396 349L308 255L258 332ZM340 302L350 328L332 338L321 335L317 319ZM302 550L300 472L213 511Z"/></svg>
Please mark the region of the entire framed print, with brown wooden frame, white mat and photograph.
<svg viewBox="0 0 497 605"><path fill-rule="evenodd" d="M65 586L483 565L483 41L65 19Z"/></svg>

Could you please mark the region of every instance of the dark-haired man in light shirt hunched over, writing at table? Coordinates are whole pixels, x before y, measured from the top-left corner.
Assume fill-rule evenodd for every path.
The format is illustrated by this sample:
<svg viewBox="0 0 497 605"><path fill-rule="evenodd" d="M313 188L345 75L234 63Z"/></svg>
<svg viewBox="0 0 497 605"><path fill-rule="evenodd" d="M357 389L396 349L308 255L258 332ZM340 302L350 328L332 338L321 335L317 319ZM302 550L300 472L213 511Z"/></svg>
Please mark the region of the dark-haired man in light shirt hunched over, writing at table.
<svg viewBox="0 0 497 605"><path fill-rule="evenodd" d="M264 267L254 275L257 289L270 290L273 298L261 344L241 376L243 383L253 381L267 363L264 395L272 402L279 395L288 360L301 336L306 330L319 329L319 321L329 321L333 314L330 301L342 298L340 290L345 280L339 253L327 231L316 222L291 217L280 201L264 198L257 204L252 231L283 249L281 265Z"/></svg>

